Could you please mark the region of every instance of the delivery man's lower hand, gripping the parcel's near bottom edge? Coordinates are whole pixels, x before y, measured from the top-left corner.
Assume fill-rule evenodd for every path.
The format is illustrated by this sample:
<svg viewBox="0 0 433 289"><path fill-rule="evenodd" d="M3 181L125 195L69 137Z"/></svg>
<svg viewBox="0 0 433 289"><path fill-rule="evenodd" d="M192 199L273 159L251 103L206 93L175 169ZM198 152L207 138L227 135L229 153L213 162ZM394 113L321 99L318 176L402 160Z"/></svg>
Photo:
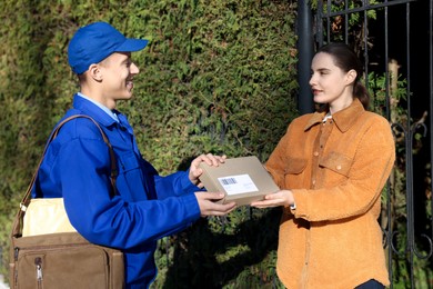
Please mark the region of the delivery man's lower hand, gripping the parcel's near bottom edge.
<svg viewBox="0 0 433 289"><path fill-rule="evenodd" d="M199 202L201 217L205 216L224 216L234 208L236 208L235 202L229 203L218 203L215 201L221 200L224 197L222 192L195 192L197 201Z"/></svg>

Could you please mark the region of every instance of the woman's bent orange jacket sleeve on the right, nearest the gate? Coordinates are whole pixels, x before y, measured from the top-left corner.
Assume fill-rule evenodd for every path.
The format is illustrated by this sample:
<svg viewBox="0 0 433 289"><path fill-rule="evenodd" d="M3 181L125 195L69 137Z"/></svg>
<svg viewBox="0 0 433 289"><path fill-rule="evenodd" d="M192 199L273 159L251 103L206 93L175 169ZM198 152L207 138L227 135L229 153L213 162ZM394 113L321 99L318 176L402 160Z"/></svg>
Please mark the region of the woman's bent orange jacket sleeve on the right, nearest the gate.
<svg viewBox="0 0 433 289"><path fill-rule="evenodd" d="M373 207L379 217L381 192L395 160L390 123L375 119L364 131L345 181L321 189L294 189L295 218L309 221L339 220L365 213Z"/></svg>

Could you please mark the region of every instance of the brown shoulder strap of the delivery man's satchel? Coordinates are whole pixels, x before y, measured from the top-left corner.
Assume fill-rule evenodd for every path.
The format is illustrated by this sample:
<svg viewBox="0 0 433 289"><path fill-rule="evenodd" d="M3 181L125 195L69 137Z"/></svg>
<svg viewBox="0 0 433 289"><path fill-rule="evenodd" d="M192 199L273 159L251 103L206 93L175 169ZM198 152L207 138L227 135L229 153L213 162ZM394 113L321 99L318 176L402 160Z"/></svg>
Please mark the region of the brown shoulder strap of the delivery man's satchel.
<svg viewBox="0 0 433 289"><path fill-rule="evenodd" d="M26 210L27 210L27 207L29 206L30 203L30 200L31 200L31 190L34 186L34 182L36 182L36 179L38 177L38 172L39 172L39 168L41 167L42 165L42 161L43 161L43 158L46 156L46 152L48 150L48 147L49 144L51 143L51 141L53 139L56 139L56 137L59 134L59 131L60 129L63 127L64 123L67 123L68 121L72 120L72 119L77 119L77 118L87 118L89 120L91 120L99 129L99 131L101 132L101 136L102 136L102 139L103 141L107 143L107 146L109 147L109 151L110 151L110 162L111 162L111 173L110 173L110 180L111 180L111 186L113 188L113 195L118 195L118 191L117 191L117 187L115 187L115 179L118 177L118 168L117 168L117 163L115 163L115 156L114 156L114 150L105 134L105 132L103 132L102 128L99 126L99 123L92 119L91 117L89 116L85 116L85 114L75 114L75 116L71 116L71 117L68 117L66 118L64 120L62 120L56 128L54 130L51 132L51 136L50 138L48 139L47 141L47 144L46 144L46 148L43 149L43 153L42 153L42 157L41 159L39 160L39 163L38 163L38 167L36 169L36 171L33 172L33 177L31 178L31 181L30 181L30 185L29 187L27 188L27 191L26 191L26 195L24 197L22 198L21 202L20 202L20 210L16 217L16 220L13 222L13 226L12 226L12 236L19 236L20 235L20 231L21 231L21 228L22 228L22 219L24 217L24 213L26 213Z"/></svg>

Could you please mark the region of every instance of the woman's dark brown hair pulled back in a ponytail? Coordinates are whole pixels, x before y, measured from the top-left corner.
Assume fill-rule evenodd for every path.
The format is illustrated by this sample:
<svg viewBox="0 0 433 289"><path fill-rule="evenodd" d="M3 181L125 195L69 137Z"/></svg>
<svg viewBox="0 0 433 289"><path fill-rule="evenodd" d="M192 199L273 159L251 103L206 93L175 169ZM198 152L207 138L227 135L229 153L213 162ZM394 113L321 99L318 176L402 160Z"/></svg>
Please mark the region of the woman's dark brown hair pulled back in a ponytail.
<svg viewBox="0 0 433 289"><path fill-rule="evenodd" d="M319 52L330 54L334 60L334 64L343 71L349 72L351 69L356 71L356 79L353 83L353 96L358 98L364 109L367 110L370 106L370 93L361 82L363 68L355 52L348 44L336 42L321 47L316 53Z"/></svg>

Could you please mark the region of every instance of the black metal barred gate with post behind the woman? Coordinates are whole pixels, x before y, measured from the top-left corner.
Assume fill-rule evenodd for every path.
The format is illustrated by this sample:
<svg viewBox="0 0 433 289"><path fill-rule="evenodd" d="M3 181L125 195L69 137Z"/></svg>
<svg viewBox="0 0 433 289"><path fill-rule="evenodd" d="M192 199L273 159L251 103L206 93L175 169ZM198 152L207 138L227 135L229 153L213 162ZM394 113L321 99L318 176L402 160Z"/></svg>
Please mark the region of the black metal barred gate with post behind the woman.
<svg viewBox="0 0 433 289"><path fill-rule="evenodd" d="M301 113L313 110L308 84L314 48L351 44L364 61L374 110L392 123L397 159L380 219L391 288L433 288L433 0L301 0Z"/></svg>

